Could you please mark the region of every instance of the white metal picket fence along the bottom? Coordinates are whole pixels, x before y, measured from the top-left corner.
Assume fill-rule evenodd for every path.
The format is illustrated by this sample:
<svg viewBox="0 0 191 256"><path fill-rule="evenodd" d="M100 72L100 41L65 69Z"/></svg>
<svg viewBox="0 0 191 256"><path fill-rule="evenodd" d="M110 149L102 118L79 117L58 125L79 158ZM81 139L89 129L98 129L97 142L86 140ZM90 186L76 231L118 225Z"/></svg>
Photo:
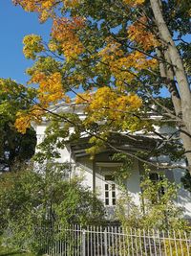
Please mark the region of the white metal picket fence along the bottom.
<svg viewBox="0 0 191 256"><path fill-rule="evenodd" d="M191 234L78 225L44 230L44 252L50 256L189 256Z"/></svg>

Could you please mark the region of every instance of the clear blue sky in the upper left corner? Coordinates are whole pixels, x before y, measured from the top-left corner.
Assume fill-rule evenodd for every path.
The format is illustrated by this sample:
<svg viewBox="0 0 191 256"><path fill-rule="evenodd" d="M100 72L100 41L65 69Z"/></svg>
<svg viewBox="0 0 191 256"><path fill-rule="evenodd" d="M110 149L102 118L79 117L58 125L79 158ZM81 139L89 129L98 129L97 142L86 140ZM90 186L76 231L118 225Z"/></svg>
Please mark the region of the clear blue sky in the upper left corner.
<svg viewBox="0 0 191 256"><path fill-rule="evenodd" d="M0 24L0 78L25 83L25 70L32 62L24 58L23 37L37 34L48 38L51 22L39 24L36 14L13 6L11 0L0 0Z"/></svg>

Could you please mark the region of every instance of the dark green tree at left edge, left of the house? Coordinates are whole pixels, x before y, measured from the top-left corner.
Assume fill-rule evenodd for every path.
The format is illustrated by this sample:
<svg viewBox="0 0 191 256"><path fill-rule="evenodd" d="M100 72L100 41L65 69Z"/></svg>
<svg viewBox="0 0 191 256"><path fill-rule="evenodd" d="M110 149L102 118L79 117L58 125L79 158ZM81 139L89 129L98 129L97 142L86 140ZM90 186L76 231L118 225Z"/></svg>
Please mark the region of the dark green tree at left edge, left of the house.
<svg viewBox="0 0 191 256"><path fill-rule="evenodd" d="M28 98L31 95L31 100ZM29 128L21 134L14 128L16 113L19 109L27 109L32 105L32 92L15 81L0 80L0 172L12 171L23 165L33 155L36 138L35 132Z"/></svg>

